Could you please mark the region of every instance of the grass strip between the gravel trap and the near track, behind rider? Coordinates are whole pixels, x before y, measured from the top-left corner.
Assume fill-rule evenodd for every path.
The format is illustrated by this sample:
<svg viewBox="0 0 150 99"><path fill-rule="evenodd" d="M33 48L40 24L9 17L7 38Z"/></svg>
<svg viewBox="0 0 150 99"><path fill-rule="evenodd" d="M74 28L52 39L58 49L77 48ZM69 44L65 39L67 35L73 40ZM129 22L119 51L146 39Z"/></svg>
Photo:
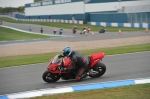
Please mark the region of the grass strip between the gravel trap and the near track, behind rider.
<svg viewBox="0 0 150 99"><path fill-rule="evenodd" d="M150 51L150 43L131 45L131 46L122 46L122 47L113 47L113 48L81 50L80 52L83 53L84 55L90 55L96 52L105 52L106 55L114 55L114 54L132 53L132 52L140 52L140 51ZM54 57L56 54L61 54L61 53L62 52L0 57L0 68L48 62L50 58Z"/></svg>

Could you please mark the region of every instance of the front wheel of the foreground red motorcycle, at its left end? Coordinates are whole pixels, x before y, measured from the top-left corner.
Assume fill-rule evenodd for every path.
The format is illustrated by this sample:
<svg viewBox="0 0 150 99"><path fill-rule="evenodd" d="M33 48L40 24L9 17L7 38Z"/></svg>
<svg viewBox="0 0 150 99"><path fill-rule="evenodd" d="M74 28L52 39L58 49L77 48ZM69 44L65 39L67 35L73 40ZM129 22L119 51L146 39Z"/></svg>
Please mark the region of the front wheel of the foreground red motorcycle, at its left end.
<svg viewBox="0 0 150 99"><path fill-rule="evenodd" d="M49 71L45 71L43 73L42 78L45 82L52 83L52 82L58 81L60 79L60 76L59 75L54 75L54 74L50 73Z"/></svg>

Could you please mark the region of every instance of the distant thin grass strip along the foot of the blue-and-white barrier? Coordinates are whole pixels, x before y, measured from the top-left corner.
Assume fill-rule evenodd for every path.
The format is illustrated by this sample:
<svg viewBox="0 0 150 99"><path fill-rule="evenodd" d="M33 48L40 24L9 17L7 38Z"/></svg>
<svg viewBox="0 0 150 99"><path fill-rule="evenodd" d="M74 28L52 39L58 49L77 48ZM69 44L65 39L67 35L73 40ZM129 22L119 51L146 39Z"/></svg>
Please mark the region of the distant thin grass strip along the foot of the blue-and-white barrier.
<svg viewBox="0 0 150 99"><path fill-rule="evenodd" d="M58 23L58 22L24 22L24 21L16 21L13 19L9 19L6 17L0 17L0 20L6 21L6 22L12 22L12 23L24 23L24 24L38 24L43 26L51 26L51 27L58 27L58 28L64 28L64 29L72 29L74 24L68 24L68 23ZM95 25L88 25L88 24L75 24L78 28L78 30L83 29L83 27L90 26L91 31L98 32L102 27L101 26L95 26ZM128 27L107 27L107 32L118 32L118 30L121 29L122 32L132 32L132 31L143 31L145 29L143 28L128 28Z"/></svg>

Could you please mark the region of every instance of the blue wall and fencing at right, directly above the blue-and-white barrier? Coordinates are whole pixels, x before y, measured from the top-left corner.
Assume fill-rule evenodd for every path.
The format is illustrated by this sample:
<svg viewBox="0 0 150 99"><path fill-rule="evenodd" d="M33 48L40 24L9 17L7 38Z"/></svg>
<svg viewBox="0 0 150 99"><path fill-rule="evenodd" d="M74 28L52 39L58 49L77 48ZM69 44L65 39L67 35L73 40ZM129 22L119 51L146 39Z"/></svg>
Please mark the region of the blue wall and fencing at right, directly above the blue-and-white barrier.
<svg viewBox="0 0 150 99"><path fill-rule="evenodd" d="M150 23L150 12L141 13L90 13L90 22Z"/></svg>

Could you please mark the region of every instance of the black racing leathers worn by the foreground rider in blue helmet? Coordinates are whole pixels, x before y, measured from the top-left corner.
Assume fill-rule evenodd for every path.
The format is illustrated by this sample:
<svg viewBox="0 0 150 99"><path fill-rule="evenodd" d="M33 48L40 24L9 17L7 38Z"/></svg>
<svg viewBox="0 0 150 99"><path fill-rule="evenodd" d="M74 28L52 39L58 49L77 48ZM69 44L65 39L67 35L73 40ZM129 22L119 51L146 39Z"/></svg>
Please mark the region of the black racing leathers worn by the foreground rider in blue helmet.
<svg viewBox="0 0 150 99"><path fill-rule="evenodd" d="M76 80L81 80L84 77L84 72L89 65L88 57L85 57L77 51L73 51L70 55L70 60L72 61L72 66L67 68L67 71L72 71L78 66L78 72L76 75Z"/></svg>

